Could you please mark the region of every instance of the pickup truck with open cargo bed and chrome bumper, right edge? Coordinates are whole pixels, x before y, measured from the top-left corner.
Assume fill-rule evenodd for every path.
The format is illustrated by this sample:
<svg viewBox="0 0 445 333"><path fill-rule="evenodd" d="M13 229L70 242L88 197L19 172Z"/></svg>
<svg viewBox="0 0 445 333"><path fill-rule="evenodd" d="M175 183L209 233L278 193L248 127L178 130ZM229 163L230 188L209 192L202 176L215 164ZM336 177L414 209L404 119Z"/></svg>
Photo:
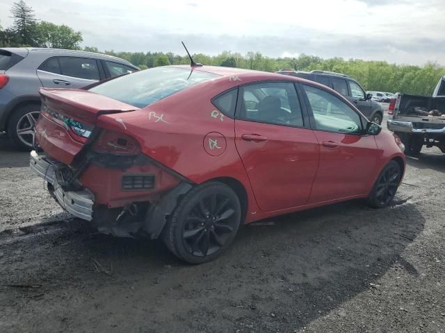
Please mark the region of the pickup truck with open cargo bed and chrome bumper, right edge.
<svg viewBox="0 0 445 333"><path fill-rule="evenodd" d="M420 153L423 146L437 146L445 153L445 76L432 96L399 94L391 100L388 129L405 144L406 155Z"/></svg>

